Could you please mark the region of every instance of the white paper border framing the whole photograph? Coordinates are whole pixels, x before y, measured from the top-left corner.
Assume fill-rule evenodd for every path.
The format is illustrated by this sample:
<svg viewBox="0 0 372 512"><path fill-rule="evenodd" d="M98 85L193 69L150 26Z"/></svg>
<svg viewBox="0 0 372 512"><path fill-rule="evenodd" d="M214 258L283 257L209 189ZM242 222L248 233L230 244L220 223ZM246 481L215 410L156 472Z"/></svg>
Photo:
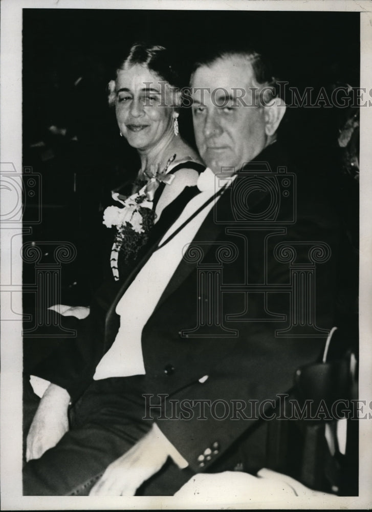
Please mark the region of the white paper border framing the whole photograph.
<svg viewBox="0 0 372 512"><path fill-rule="evenodd" d="M367 91L372 88L372 3L338 0L3 0L1 3L1 157L4 164L13 164L18 178L22 170L22 9L182 9L182 10L268 10L268 11L348 11L360 12L361 27L361 83ZM372 399L372 134L371 107L361 109L360 137L360 397ZM8 167L7 167L8 169ZM2 191L3 192L3 191ZM4 198L4 196L3 196ZM4 204L2 211L8 211ZM21 222L1 229L2 311L6 309L7 290L21 283ZM10 237L16 236L10 251ZM14 311L21 311L21 288L12 294ZM338 509L368 508L372 502L372 432L370 421L360 421L359 497L330 497L327 499L294 497L291 502L262 501L252 503L211 502L181 503L172 497L31 497L21 492L21 322L2 322L2 374L1 374L1 489L3 510L80 510L80 509ZM369 397L369 398L368 398Z"/></svg>

